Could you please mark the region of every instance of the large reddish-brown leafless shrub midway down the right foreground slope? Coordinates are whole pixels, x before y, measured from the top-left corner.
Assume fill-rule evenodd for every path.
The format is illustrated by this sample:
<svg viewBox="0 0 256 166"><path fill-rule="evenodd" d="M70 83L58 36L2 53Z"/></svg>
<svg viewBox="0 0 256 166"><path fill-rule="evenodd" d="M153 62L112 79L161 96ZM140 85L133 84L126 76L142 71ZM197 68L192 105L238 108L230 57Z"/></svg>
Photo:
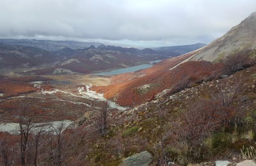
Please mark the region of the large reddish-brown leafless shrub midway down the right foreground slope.
<svg viewBox="0 0 256 166"><path fill-rule="evenodd" d="M219 128L232 112L223 109L220 103L200 100L188 112L182 114L180 121L173 124L175 139L186 139L193 146L202 144L212 131Z"/></svg>

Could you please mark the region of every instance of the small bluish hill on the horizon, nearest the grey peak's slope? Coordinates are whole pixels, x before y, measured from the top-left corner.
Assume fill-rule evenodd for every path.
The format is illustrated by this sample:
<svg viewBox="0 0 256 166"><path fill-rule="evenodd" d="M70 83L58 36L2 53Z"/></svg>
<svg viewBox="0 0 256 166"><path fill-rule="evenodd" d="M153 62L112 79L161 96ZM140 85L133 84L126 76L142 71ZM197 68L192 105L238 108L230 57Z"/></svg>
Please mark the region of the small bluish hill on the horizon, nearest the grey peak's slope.
<svg viewBox="0 0 256 166"><path fill-rule="evenodd" d="M177 52L179 54L186 54L187 52L200 49L205 45L206 45L205 43L196 43L193 45L164 46L164 47L156 47L154 48L154 50L172 51L172 52Z"/></svg>

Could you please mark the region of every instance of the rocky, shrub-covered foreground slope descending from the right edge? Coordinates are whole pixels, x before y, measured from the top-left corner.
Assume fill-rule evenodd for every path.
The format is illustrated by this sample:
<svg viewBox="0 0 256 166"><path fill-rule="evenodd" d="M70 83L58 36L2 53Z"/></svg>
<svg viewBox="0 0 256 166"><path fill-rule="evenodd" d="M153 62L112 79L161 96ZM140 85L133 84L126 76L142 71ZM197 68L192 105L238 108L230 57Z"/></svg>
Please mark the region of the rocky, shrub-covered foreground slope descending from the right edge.
<svg viewBox="0 0 256 166"><path fill-rule="evenodd" d="M93 143L86 161L118 165L122 158L147 150L154 155L152 165L239 162L240 149L253 146L255 140L255 72L254 65L171 96L165 91L151 102L120 112L116 122L111 121L115 125L109 134Z"/></svg>

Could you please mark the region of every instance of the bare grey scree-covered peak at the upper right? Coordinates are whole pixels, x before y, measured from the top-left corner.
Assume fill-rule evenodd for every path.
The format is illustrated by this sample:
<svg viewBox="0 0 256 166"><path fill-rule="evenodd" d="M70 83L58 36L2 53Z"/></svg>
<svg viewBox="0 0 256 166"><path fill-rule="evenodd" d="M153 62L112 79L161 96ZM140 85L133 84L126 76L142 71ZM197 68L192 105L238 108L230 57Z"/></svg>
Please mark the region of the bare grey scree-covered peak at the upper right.
<svg viewBox="0 0 256 166"><path fill-rule="evenodd" d="M241 50L256 49L256 12L200 50L191 60L218 61Z"/></svg>

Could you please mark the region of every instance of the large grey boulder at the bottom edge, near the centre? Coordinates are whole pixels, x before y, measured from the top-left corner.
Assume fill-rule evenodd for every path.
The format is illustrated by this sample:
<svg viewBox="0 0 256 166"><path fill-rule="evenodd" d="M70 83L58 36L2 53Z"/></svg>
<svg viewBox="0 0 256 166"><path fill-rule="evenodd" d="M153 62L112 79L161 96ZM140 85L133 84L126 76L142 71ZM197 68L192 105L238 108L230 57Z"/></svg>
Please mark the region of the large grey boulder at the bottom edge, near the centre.
<svg viewBox="0 0 256 166"><path fill-rule="evenodd" d="M125 158L118 166L148 166L152 160L153 156L148 151L143 151Z"/></svg>

